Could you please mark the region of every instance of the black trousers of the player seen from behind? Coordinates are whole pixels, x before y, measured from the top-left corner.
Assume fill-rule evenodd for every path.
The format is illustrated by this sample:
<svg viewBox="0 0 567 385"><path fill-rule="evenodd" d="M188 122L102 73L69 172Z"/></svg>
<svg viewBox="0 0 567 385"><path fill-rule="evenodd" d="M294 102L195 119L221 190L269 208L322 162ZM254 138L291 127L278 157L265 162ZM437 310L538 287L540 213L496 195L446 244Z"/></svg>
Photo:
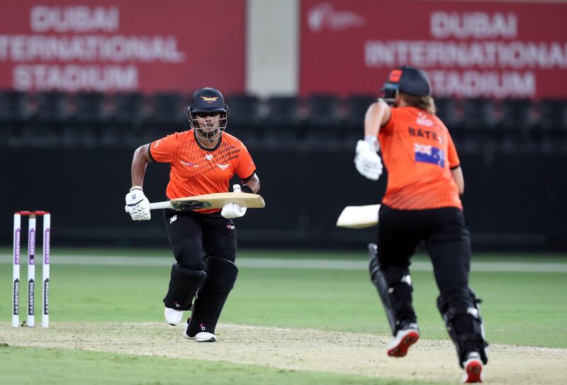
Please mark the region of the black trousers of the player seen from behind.
<svg viewBox="0 0 567 385"><path fill-rule="evenodd" d="M409 274L410 257L421 241L430 255L441 296L463 298L463 305L468 303L471 240L462 211L453 207L396 210L381 206L378 261L386 275Z"/></svg>

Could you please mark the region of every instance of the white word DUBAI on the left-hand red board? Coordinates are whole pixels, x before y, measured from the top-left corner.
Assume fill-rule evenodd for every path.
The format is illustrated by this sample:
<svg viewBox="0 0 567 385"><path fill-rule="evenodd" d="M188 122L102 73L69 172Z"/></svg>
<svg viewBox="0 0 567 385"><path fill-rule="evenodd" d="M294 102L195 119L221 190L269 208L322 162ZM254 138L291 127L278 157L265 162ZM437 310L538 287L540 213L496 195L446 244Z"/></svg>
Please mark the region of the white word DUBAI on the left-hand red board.
<svg viewBox="0 0 567 385"><path fill-rule="evenodd" d="M115 6L32 6L30 27L34 32L113 32L118 30Z"/></svg>

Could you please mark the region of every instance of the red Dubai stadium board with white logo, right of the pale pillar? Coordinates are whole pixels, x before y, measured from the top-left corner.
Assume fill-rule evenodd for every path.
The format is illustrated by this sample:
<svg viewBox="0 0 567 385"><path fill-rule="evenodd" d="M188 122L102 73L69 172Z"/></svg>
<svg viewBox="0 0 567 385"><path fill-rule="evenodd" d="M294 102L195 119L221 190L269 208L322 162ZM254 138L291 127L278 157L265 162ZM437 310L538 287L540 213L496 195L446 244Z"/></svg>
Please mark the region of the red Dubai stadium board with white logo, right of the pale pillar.
<svg viewBox="0 0 567 385"><path fill-rule="evenodd" d="M567 97L567 4L301 1L301 94L376 94L388 69L434 96Z"/></svg>

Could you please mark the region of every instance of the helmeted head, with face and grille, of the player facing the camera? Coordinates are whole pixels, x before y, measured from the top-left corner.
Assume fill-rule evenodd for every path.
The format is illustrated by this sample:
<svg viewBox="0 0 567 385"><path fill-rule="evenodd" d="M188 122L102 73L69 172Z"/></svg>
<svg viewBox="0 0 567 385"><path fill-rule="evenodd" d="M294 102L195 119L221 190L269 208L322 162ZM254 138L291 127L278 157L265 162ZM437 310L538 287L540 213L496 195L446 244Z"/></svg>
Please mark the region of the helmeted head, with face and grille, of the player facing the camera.
<svg viewBox="0 0 567 385"><path fill-rule="evenodd" d="M218 89L206 87L196 90L187 111L189 126L195 130L198 138L215 140L223 135L228 123L228 106ZM214 118L207 122L204 116Z"/></svg>

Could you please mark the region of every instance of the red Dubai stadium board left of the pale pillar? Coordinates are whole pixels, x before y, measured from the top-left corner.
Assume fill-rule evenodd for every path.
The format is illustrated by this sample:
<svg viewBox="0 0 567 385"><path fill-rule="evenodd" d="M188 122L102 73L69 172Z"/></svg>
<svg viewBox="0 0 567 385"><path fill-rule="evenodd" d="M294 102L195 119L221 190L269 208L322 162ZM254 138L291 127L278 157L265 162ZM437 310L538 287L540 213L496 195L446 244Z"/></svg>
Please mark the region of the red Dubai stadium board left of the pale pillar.
<svg viewBox="0 0 567 385"><path fill-rule="evenodd" d="M0 88L245 88L245 0L9 1Z"/></svg>

